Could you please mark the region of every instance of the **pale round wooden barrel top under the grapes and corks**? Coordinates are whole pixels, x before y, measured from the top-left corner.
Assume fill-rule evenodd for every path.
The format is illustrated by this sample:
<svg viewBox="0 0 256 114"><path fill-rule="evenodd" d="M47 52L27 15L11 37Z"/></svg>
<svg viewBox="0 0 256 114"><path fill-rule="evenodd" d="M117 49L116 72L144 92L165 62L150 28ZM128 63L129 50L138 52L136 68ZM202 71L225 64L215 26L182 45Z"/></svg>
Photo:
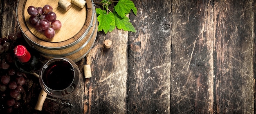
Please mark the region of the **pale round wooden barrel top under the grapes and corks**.
<svg viewBox="0 0 256 114"><path fill-rule="evenodd" d="M56 13L56 19L61 21L62 24L60 30L55 30L55 36L52 39L48 39L47 37L45 37L44 32L36 31L36 28L29 23L30 15L27 13L27 8L29 6L43 7L45 4L49 4L53 7L53 12ZM25 23L29 31L31 32L31 34L36 36L38 40L46 41L49 43L65 44L65 41L68 41L68 43L70 43L78 39L76 39L74 36L76 34L81 34L79 32L83 30L83 27L86 24L85 20L87 17L87 9L86 7L83 7L83 9L81 9L76 5L72 5L68 11L65 11L64 9L58 6L58 0L26 0L23 14L25 18ZM38 41L38 43L43 42Z"/></svg>

